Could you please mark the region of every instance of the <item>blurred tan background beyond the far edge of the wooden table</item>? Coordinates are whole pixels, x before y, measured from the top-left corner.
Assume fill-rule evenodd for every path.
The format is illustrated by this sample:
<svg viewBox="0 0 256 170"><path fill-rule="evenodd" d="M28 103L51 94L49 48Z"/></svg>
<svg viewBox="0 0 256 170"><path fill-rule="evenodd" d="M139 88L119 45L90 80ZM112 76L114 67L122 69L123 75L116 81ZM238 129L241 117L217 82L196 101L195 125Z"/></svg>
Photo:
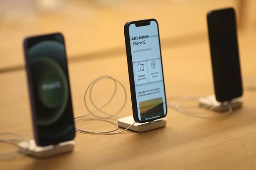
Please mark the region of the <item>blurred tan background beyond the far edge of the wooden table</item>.
<svg viewBox="0 0 256 170"><path fill-rule="evenodd" d="M162 47L208 42L206 14L223 7L235 8L239 34L255 34L256 0L0 0L0 73L24 69L23 39L35 34L63 33L69 62L125 57L132 20L158 20Z"/></svg>

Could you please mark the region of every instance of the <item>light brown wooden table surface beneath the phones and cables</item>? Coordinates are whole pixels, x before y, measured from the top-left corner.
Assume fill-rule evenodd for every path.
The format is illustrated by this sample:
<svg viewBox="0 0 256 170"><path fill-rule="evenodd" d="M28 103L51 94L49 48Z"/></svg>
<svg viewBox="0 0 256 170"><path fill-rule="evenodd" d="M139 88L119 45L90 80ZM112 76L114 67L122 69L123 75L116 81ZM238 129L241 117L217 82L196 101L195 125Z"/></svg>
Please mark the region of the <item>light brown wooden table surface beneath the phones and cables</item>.
<svg viewBox="0 0 256 170"><path fill-rule="evenodd" d="M132 115L124 40L118 42L122 44L116 46L118 52L111 51L116 48L108 48L106 53L95 50L91 55L87 53L88 56L69 58L75 117L88 113L83 101L85 89L91 81L103 75L119 80L127 91L127 103L118 116ZM183 39L166 36L161 45L168 105L183 96L214 93L206 32ZM11 160L0 161L0 170L256 169L255 47L255 32L239 32L243 107L228 116L194 118L168 107L167 125L164 128L143 133L125 131L117 135L76 133L72 153L43 160L19 155ZM112 91L111 81L99 81L93 91L93 99L100 105L107 101ZM27 139L33 138L23 68L0 73L0 94L0 132L15 132ZM124 93L118 87L108 111L118 110L123 100ZM112 120L117 122L115 118ZM99 121L78 122L76 126L93 131L114 128ZM3 147L5 144L0 143L0 150Z"/></svg>

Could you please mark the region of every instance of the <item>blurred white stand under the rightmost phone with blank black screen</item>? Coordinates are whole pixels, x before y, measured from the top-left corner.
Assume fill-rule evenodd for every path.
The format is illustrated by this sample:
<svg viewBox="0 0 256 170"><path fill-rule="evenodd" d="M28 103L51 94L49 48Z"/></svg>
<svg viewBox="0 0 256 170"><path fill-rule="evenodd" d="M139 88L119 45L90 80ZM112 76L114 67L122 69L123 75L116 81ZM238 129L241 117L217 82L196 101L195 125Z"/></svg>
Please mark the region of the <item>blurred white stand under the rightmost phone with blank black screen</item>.
<svg viewBox="0 0 256 170"><path fill-rule="evenodd" d="M214 107L213 111L225 111L227 109L226 105L229 103L232 110L242 107L243 101L241 97L232 99L231 101L219 102L216 100L215 95L201 97L198 99L199 106L201 107Z"/></svg>

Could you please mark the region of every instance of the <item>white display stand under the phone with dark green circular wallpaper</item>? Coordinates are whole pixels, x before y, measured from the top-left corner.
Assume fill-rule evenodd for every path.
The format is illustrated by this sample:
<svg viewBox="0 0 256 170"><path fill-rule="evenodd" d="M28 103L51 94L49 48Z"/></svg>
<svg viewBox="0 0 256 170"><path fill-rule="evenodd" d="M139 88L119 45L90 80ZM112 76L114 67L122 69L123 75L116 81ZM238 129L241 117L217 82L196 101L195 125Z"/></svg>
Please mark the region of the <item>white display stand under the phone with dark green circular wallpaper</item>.
<svg viewBox="0 0 256 170"><path fill-rule="evenodd" d="M63 153L72 152L74 142L72 140L58 143L57 145L38 146L35 140L23 141L19 143L19 152L34 158L48 158Z"/></svg>

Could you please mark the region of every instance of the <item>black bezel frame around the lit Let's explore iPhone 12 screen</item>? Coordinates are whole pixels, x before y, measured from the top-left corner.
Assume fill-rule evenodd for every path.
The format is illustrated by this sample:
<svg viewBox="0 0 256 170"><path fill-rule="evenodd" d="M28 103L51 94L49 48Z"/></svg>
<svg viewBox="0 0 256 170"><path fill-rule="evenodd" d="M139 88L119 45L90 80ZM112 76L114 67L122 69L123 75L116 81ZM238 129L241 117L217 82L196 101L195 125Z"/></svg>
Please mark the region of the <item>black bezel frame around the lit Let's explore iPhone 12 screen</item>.
<svg viewBox="0 0 256 170"><path fill-rule="evenodd" d="M163 76L163 62L162 62L162 53L161 53L161 43L160 43L160 34L159 34L159 28L158 28L157 20L156 19L148 19L148 20L131 21L131 22L126 22L125 25L124 25L125 48L126 48L126 57L127 57L127 64L128 64L130 91L131 91L131 103L132 103L132 109L133 109L133 118L137 123L145 123L145 122L149 122L149 121L154 121L156 119L164 118L167 115L166 92L165 92L165 84L164 84L164 76L163 76L163 94L164 94L164 98L165 98L166 113L164 114L164 116L161 116L160 118L154 118L154 119L151 119L151 120L141 121L138 118L138 106L137 106L137 99L136 99L136 90L135 90L135 81L134 81L134 72L133 72L133 61L132 61L132 54L131 54L131 42L130 42L129 26L131 24L135 24L137 27L150 25L151 21L155 21L156 25L157 25L159 51L160 51L162 76Z"/></svg>

